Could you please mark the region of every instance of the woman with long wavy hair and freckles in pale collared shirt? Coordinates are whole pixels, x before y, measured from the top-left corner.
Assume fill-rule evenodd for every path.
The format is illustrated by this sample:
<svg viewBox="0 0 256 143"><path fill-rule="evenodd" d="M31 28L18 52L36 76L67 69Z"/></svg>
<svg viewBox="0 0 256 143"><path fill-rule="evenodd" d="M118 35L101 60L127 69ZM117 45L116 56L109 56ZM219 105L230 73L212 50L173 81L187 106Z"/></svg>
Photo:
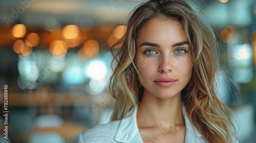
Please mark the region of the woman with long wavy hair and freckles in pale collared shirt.
<svg viewBox="0 0 256 143"><path fill-rule="evenodd" d="M214 89L217 43L183 1L140 5L112 47L112 122L79 134L79 142L238 142L233 112Z"/></svg>

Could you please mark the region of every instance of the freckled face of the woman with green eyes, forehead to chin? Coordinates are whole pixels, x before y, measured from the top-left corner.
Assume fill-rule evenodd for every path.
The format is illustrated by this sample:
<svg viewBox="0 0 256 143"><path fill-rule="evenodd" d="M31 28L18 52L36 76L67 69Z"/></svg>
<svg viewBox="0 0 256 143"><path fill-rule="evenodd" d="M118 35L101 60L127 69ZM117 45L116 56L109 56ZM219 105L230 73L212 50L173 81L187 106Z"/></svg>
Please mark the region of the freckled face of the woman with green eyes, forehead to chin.
<svg viewBox="0 0 256 143"><path fill-rule="evenodd" d="M165 99L180 95L193 69L188 50L178 20L156 17L147 21L138 35L134 59L144 96Z"/></svg>

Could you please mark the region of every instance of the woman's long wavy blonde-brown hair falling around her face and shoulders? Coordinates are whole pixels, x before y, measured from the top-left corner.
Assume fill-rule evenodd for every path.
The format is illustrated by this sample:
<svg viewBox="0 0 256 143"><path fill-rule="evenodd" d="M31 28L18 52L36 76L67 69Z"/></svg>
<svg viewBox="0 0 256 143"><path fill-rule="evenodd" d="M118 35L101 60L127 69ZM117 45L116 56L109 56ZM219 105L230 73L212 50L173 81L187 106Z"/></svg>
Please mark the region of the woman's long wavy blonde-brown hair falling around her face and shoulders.
<svg viewBox="0 0 256 143"><path fill-rule="evenodd" d="M112 46L115 67L109 90L116 99L112 121L126 117L127 112L140 103L143 87L134 64L136 39L143 24L154 17L177 19L188 38L193 72L182 90L182 101L190 121L208 142L229 142L231 131L236 129L228 115L235 115L218 98L215 89L215 76L220 67L218 38L214 30L180 0L152 0L139 5L127 22L125 35Z"/></svg>

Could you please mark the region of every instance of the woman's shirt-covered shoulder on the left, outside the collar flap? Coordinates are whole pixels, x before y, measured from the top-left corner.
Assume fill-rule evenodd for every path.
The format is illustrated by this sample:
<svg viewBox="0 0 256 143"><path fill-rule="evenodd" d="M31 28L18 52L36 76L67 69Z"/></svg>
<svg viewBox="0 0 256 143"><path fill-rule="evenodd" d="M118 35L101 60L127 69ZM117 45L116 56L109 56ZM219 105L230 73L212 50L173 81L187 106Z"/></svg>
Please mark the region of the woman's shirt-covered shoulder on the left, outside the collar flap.
<svg viewBox="0 0 256 143"><path fill-rule="evenodd" d="M114 142L120 120L108 124L97 125L77 136L78 143Z"/></svg>

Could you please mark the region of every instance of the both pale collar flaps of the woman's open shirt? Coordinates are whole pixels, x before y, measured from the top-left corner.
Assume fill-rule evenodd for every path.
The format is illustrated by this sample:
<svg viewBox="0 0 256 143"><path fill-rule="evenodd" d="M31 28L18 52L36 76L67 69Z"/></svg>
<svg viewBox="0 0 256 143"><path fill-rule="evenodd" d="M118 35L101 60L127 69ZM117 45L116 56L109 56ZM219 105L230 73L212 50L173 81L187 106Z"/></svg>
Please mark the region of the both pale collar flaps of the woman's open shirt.
<svg viewBox="0 0 256 143"><path fill-rule="evenodd" d="M134 112L131 114L133 110L130 110L127 115L131 114L128 117L125 117L121 120L115 140L119 142L130 142L136 133L139 131L137 125L137 109L138 105L136 105ZM182 112L185 120L185 126L187 129L193 131L198 137L202 137L201 132L195 127L193 123L190 122L188 115L186 113L185 106L182 105Z"/></svg>

